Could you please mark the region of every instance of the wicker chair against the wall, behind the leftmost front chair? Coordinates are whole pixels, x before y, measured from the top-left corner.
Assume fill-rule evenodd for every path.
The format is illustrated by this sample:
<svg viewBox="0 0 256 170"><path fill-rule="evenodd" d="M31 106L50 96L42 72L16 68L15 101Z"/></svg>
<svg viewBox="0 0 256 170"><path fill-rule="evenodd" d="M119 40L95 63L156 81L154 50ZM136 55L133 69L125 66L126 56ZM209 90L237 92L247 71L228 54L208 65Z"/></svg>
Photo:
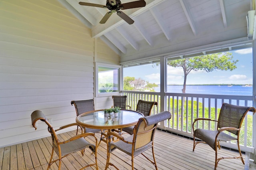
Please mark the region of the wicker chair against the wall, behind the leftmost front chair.
<svg viewBox="0 0 256 170"><path fill-rule="evenodd" d="M72 100L71 105L73 105L73 104L76 108L76 116L78 116L82 113L88 112L88 111L94 111L94 101L93 101L93 99L77 100L77 101ZM84 132L97 133L97 132L101 132L101 130L84 127ZM76 134L77 133L78 133L78 127L77 127Z"/></svg>

